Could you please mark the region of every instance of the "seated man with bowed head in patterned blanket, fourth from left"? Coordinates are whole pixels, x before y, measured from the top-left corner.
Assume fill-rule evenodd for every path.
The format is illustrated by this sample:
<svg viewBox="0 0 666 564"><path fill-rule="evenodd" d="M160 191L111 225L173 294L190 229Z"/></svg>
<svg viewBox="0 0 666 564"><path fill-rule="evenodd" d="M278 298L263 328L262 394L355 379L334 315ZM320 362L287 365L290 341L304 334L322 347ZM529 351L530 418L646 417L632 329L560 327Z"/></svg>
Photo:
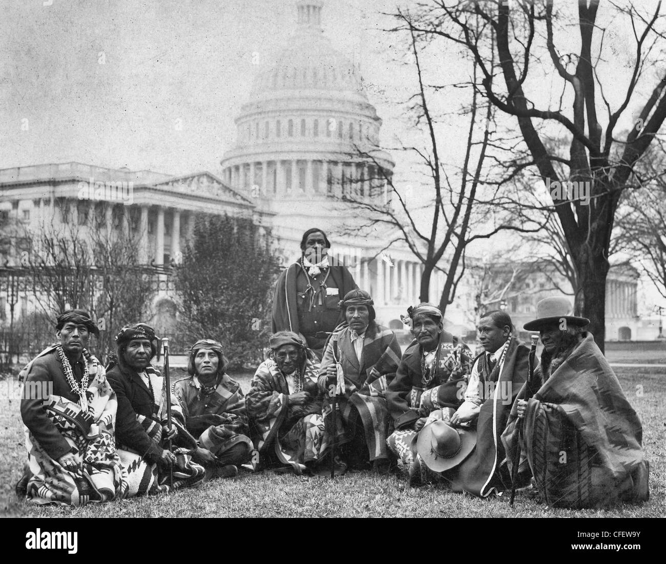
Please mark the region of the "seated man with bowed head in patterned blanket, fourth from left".
<svg viewBox="0 0 666 564"><path fill-rule="evenodd" d="M245 398L252 440L261 468L287 466L302 474L326 450L319 363L291 331L278 331L268 346L270 357L256 369Z"/></svg>

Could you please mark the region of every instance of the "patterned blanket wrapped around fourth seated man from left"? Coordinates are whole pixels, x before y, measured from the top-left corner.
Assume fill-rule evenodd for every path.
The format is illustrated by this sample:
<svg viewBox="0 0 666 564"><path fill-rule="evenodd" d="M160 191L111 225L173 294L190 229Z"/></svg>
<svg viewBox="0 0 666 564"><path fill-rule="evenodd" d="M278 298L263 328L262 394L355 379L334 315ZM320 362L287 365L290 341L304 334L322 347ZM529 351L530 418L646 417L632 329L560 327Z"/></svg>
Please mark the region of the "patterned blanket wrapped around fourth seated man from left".
<svg viewBox="0 0 666 564"><path fill-rule="evenodd" d="M276 460L300 475L306 462L321 460L328 442L316 386L318 368L309 359L301 367L303 390L312 396L302 406L289 404L286 378L274 360L265 360L256 369L245 401L261 466Z"/></svg>

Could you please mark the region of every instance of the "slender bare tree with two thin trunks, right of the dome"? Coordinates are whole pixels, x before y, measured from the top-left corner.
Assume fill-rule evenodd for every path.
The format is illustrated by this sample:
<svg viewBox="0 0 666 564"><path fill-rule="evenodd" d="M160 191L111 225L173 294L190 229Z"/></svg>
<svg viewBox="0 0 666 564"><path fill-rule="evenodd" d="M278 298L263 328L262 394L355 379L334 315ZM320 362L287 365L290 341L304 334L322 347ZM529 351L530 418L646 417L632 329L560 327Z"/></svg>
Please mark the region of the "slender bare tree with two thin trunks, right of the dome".
<svg viewBox="0 0 666 564"><path fill-rule="evenodd" d="M494 107L484 103L477 88L471 88L477 81L478 65L472 65L472 79L468 84L470 104L462 108L468 118L466 150L462 162L446 162L442 158L442 146L447 138L446 130L438 122L436 112L431 109L432 98L442 98L443 86L430 86L426 78L427 70L422 63L422 52L430 47L428 38L412 24L412 15L398 10L396 17L400 24L387 30L396 34L407 34L410 45L410 57L414 65L417 88L408 100L408 115L415 128L426 130L426 145L401 146L399 150L416 155L423 167L424 186L420 190L418 206L416 198L405 193L404 188L396 186L389 174L378 162L372 149L356 146L356 153L371 170L377 171L370 182L379 182L384 186L385 198L378 197L377 190L370 194L360 194L353 189L354 180L348 184L352 189L344 189L339 194L345 202L351 202L356 208L367 213L364 229L388 227L393 235L386 241L384 249L394 243L406 243L414 256L424 265L421 277L420 300L429 301L429 289L432 273L435 270L445 274L442 295L436 297L442 313L454 301L458 285L466 270L466 251L472 243L490 239L501 231L528 233L539 229L539 223L524 213L524 208L514 203L505 202L496 206L494 199L498 188L488 193L486 185L492 176L494 162L492 148L499 140L494 136ZM454 84L461 87L464 85ZM440 100L441 101L441 100ZM357 182L366 182L360 179ZM413 190L412 187L412 191ZM421 196L430 192L431 196ZM427 203L430 221L422 225L416 212ZM358 229L358 226L354 227Z"/></svg>

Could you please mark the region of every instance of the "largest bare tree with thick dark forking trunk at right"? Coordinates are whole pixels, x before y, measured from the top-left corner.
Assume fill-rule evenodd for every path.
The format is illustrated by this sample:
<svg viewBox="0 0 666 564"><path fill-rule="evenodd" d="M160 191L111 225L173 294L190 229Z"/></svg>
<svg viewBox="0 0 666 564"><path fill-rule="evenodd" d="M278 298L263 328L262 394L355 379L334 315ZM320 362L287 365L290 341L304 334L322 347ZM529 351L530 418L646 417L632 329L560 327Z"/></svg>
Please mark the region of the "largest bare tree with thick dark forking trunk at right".
<svg viewBox="0 0 666 564"><path fill-rule="evenodd" d="M633 5L612 4L603 24L597 23L598 0L579 1L577 14L568 19L565 8L555 10L551 0L462 2L454 7L438 0L421 7L418 23L410 24L412 29L445 37L466 49L482 75L478 88L498 110L515 117L529 155L517 160L515 168L535 169L547 186L567 181L583 183L581 186L589 183L588 202L570 198L570 194L555 194L552 199L582 287L577 306L591 320L591 332L603 350L605 281L615 211L623 190L635 181L635 164L666 118L663 71L647 100L640 104L637 126L623 140L615 138L615 130L629 103L639 103L638 86L646 70L663 59L661 3L648 15ZM556 34L571 23L578 37L569 33L565 41L561 39L561 52L555 45ZM633 31L635 61L623 99L617 108L611 108L599 76L599 62L606 32L622 25ZM572 41L578 44L576 53L575 47L568 47ZM561 94L541 108L539 95L527 90L534 80L538 84L541 76L547 76L547 67L559 77ZM502 87L496 80L498 74L503 76ZM605 108L605 130L597 104ZM553 128L569 139L568 157L548 150ZM554 162L565 164L568 178L557 174Z"/></svg>

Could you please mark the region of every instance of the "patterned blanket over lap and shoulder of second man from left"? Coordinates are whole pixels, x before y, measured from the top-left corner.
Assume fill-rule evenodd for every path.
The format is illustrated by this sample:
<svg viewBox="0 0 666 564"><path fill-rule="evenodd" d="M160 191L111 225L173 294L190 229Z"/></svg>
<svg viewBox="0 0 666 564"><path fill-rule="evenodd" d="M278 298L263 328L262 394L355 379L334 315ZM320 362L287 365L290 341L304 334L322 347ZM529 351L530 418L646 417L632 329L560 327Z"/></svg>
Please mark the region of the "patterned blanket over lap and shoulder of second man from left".
<svg viewBox="0 0 666 564"><path fill-rule="evenodd" d="M137 421L143 426L155 444L167 448L166 442L162 440L162 425L166 422L166 379L152 366L146 368L146 372L151 378L153 389L161 390L159 397L155 398L156 401L159 401L159 405L153 418L137 415ZM187 431L182 408L173 395L171 396L171 420L172 425L178 432L176 439L174 439L174 445L180 445L172 446L171 449L176 456L176 463L173 466L172 486L170 484L171 472L168 469L162 468L157 463L149 464L141 456L141 453L127 446L118 446L118 454L123 463L123 468L127 472L128 497L165 493L170 490L196 486L203 482L206 471L203 466L192 462L191 452L196 448L196 439Z"/></svg>

